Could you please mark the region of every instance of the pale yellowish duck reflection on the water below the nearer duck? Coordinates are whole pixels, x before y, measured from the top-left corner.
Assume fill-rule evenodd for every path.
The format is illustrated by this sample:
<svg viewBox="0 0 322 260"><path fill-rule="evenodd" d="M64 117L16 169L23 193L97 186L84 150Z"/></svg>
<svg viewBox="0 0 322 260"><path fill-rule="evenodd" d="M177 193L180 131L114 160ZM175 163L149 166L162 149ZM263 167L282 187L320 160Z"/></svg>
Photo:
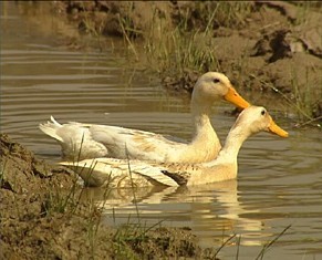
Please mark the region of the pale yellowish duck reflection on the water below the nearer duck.
<svg viewBox="0 0 322 260"><path fill-rule="evenodd" d="M240 202L236 179L191 187L85 188L83 196L102 208L107 225L190 227L202 247L220 245L233 235L241 235L242 246L260 246L262 237L270 236L256 218L260 209Z"/></svg>

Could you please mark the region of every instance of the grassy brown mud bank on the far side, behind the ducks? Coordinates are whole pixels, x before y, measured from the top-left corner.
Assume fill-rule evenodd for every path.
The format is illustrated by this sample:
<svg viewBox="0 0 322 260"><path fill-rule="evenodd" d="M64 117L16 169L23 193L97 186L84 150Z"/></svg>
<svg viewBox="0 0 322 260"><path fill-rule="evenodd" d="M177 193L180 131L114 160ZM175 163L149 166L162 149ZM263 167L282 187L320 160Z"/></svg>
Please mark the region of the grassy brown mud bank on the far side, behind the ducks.
<svg viewBox="0 0 322 260"><path fill-rule="evenodd" d="M129 63L158 72L170 91L191 92L200 74L220 71L255 104L283 111L297 122L322 119L320 2L102 0L18 6L44 33L43 24L54 23L58 33L52 40L58 44L104 52L111 42L123 42Z"/></svg>

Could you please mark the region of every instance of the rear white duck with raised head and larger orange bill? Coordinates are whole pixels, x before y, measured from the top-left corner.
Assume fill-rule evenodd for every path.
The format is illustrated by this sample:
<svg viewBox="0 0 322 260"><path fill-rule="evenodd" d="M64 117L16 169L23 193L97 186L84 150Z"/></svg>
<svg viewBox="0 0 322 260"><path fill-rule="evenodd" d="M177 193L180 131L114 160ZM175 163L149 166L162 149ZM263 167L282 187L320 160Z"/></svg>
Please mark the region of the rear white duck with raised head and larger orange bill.
<svg viewBox="0 0 322 260"><path fill-rule="evenodd" d="M226 100L246 108L250 104L239 95L229 79L219 72L207 72L196 82L190 101L194 135L189 143L160 134L111 125L51 122L39 128L55 138L63 159L82 160L111 157L157 163L201 163L218 155L221 145L211 125L211 106Z"/></svg>

